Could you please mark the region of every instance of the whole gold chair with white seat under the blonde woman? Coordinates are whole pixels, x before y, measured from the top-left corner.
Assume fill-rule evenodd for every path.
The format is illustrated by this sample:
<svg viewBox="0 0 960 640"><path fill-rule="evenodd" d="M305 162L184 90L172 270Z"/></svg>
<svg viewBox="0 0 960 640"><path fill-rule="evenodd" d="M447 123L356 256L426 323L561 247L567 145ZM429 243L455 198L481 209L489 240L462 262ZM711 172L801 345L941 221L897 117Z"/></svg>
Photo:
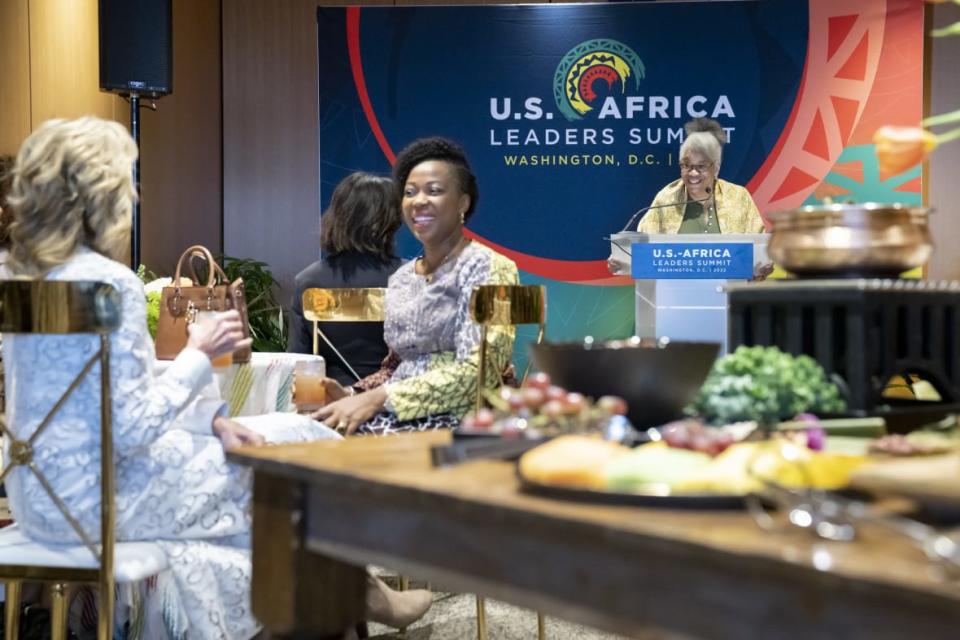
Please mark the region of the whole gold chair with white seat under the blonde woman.
<svg viewBox="0 0 960 640"><path fill-rule="evenodd" d="M120 326L120 297L102 282L0 281L0 332L4 334L95 334L100 348L46 417L29 435L16 437L0 419L8 441L8 460L0 482L22 466L32 473L63 517L83 541L80 545L51 545L27 538L16 524L0 530L0 580L6 587L6 638L19 637L20 592L24 581L52 586L51 637L66 638L67 585L92 583L99 587L98 640L110 640L113 630L114 585L141 580L167 568L163 551L150 543L116 543L114 467L110 396L110 333ZM100 365L100 531L83 529L56 495L33 460L34 445L91 369ZM9 399L8 399L9 400Z"/></svg>

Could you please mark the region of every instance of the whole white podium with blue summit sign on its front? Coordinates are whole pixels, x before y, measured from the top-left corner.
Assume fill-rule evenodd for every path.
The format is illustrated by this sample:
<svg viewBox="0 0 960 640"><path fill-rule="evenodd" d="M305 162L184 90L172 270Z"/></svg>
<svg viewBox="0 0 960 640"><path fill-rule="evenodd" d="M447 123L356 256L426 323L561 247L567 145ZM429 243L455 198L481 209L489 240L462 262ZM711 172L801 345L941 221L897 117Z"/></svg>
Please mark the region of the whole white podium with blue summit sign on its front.
<svg viewBox="0 0 960 640"><path fill-rule="evenodd" d="M767 259L767 234L645 234L624 231L611 255L636 283L636 334L716 342L727 352L730 281L749 280Z"/></svg>

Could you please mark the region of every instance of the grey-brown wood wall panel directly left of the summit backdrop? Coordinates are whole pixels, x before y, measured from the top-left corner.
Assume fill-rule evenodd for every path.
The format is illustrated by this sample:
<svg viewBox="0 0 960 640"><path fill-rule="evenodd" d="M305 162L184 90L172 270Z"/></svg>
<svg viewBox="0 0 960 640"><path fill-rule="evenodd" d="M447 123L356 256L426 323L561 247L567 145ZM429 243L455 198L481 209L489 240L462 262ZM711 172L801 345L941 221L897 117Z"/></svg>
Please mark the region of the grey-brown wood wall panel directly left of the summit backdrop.
<svg viewBox="0 0 960 640"><path fill-rule="evenodd" d="M267 262L288 287L319 253L316 11L316 0L223 4L224 252ZM298 228L292 211L316 223Z"/></svg>

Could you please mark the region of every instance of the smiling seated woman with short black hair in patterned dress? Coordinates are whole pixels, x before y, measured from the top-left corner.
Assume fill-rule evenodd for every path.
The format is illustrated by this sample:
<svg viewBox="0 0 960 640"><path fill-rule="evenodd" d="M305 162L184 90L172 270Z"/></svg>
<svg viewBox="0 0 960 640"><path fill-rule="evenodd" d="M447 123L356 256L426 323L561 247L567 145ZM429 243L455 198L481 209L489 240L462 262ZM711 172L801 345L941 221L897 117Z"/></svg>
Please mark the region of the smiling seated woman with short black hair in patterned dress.
<svg viewBox="0 0 960 640"><path fill-rule="evenodd" d="M464 236L477 207L477 179L463 150L443 138L413 142L394 167L404 223L423 253L390 277L384 367L352 387L327 380L327 406L318 420L345 433L387 434L453 427L473 406L480 327L470 318L470 294L481 284L517 284L516 265ZM489 375L513 352L513 327L490 327Z"/></svg>

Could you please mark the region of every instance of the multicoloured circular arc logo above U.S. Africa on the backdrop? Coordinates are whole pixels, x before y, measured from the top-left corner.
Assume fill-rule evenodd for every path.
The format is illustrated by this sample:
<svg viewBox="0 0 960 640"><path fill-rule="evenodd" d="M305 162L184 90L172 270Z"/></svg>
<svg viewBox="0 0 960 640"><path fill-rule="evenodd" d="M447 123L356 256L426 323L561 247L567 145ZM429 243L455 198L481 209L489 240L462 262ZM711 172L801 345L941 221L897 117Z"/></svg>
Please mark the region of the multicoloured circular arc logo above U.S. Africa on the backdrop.
<svg viewBox="0 0 960 640"><path fill-rule="evenodd" d="M581 42L568 51L553 74L553 97L560 113L567 120L581 120L592 111L597 92L594 83L606 82L611 91L620 93L640 87L644 68L633 49L616 40L597 39Z"/></svg>

